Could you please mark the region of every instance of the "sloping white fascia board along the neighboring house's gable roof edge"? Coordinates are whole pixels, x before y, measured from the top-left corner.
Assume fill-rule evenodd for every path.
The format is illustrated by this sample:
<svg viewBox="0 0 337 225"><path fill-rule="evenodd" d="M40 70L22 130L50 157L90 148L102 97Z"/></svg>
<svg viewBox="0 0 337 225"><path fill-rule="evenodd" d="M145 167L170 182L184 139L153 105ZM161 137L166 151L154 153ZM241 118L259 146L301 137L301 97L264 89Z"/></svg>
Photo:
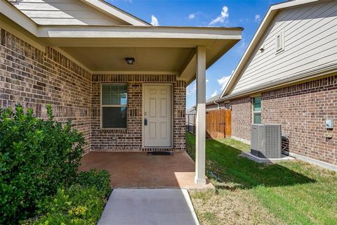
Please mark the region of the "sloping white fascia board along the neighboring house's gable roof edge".
<svg viewBox="0 0 337 225"><path fill-rule="evenodd" d="M246 51L244 52L244 55L242 56L241 60L239 61L237 68L235 68L233 74L230 76L229 81L227 82L225 89L223 89L223 93L221 94L220 98L223 98L223 96L226 96L227 94L230 94L230 91L232 89L232 86L237 82L237 79L239 78L240 73L242 72L242 69L246 65L246 62L251 57L251 53L253 53L254 49L256 48L257 44L260 41L260 38L263 37L263 34L265 33L265 30L267 30L267 27L269 27L270 23L272 23L272 20L274 19L277 12L284 8L291 8L295 6L299 6L302 4L310 4L315 1L320 0L296 0L296 1L286 1L284 3L275 4L270 6L269 10L265 14L265 17L263 18L262 22L260 23L260 26L258 27L258 30L253 36L253 39L251 39L251 42L249 43L249 46L247 47Z"/></svg>

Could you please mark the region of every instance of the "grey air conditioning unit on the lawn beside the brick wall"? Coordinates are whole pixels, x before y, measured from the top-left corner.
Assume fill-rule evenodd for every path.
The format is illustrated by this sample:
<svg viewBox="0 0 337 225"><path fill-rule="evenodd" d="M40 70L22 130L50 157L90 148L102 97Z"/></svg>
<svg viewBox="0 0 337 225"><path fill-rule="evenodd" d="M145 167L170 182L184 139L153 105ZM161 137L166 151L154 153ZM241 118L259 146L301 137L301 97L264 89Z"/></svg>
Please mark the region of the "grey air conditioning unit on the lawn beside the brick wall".
<svg viewBox="0 0 337 225"><path fill-rule="evenodd" d="M251 124L251 154L259 158L281 158L281 124Z"/></svg>

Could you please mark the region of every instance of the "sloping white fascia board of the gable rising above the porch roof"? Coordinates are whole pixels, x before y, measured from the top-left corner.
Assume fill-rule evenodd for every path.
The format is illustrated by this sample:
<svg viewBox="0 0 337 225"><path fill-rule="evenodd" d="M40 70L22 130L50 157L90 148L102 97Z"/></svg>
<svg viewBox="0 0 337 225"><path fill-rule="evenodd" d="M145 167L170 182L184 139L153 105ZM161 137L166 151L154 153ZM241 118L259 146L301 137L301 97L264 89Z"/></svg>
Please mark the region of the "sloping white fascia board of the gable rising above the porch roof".
<svg viewBox="0 0 337 225"><path fill-rule="evenodd" d="M112 6L111 4L108 4L107 2L100 1L100 0L81 0L88 6L91 6L98 11L102 11L105 14L112 15L114 17L119 18L120 20L124 20L126 23L129 23L130 25L135 26L150 26L150 24L146 23L143 20L140 20L139 18L136 18L135 16L126 13L125 11L122 11L121 9Z"/></svg>

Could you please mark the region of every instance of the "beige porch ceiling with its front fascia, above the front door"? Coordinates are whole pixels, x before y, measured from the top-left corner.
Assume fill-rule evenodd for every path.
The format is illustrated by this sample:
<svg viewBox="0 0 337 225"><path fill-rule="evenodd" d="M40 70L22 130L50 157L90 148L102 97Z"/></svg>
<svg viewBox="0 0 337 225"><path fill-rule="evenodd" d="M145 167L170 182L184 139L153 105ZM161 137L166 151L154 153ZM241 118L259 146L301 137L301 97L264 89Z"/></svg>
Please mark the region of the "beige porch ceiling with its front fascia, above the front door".
<svg viewBox="0 0 337 225"><path fill-rule="evenodd" d="M197 46L206 47L206 68L241 39L227 27L44 27L38 35L93 73L176 74L195 79ZM125 58L136 62L127 65Z"/></svg>

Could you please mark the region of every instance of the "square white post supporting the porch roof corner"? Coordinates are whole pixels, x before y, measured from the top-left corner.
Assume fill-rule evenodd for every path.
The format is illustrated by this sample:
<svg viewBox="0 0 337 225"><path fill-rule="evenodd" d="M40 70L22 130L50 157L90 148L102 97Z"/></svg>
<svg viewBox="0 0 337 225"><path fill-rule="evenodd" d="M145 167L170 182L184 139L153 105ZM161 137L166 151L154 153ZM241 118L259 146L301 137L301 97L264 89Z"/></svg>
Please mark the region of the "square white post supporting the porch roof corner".
<svg viewBox="0 0 337 225"><path fill-rule="evenodd" d="M196 184L206 184L205 145L206 145L206 47L197 46L197 117L195 142Z"/></svg>

